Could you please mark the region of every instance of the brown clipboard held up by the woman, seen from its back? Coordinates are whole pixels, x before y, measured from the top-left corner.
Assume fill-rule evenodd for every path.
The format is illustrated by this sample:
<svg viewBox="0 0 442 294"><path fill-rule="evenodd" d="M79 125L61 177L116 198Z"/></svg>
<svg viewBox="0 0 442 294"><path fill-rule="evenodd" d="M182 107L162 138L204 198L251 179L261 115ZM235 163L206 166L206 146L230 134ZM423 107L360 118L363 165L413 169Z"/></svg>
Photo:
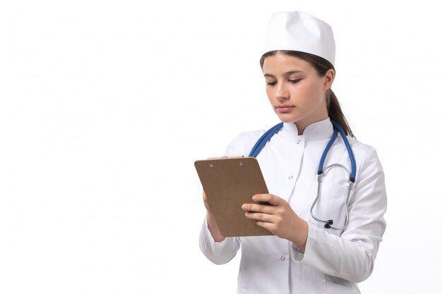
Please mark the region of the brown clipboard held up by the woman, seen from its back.
<svg viewBox="0 0 442 294"><path fill-rule="evenodd" d="M268 193L256 158L220 157L197 160L195 168L221 235L273 235L252 219L247 219L241 209L242 204L254 202L251 199L253 195Z"/></svg>

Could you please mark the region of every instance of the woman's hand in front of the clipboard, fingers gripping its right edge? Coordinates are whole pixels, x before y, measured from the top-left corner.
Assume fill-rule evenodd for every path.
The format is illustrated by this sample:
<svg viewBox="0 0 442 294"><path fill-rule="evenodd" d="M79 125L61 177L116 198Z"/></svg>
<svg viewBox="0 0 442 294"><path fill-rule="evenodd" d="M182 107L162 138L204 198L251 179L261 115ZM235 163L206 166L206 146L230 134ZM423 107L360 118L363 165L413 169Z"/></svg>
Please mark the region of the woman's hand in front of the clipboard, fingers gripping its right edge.
<svg viewBox="0 0 442 294"><path fill-rule="evenodd" d="M292 241L304 252L309 225L294 213L287 201L272 194L253 195L252 200L269 202L271 205L242 204L241 208L246 211L246 218L255 220L258 226L266 228L278 237Z"/></svg>

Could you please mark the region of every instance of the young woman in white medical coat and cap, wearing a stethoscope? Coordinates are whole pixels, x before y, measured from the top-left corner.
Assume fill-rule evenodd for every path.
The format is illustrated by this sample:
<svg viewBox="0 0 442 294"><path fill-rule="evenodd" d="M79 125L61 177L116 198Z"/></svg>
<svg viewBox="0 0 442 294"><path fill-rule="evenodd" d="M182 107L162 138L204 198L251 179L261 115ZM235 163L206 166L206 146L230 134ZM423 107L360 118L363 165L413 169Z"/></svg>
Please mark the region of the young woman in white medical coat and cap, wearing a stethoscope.
<svg viewBox="0 0 442 294"><path fill-rule="evenodd" d="M384 175L375 149L354 139L331 90L334 62L327 23L299 11L271 16L261 68L282 124L265 139L265 131L241 133L225 155L249 156L263 140L253 156L270 194L251 195L241 208L274 235L225 238L206 202L200 235L201 251L215 264L241 247L237 293L360 293L357 283L374 269L386 228Z"/></svg>

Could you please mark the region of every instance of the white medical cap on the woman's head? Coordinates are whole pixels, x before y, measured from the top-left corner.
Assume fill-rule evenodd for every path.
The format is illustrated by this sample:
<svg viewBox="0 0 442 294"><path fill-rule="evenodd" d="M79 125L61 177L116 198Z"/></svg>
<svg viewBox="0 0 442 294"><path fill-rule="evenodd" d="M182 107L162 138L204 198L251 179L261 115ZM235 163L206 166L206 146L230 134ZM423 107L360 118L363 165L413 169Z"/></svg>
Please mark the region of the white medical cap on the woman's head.
<svg viewBox="0 0 442 294"><path fill-rule="evenodd" d="M335 65L332 28L301 11L278 12L270 16L263 54L275 50L306 52L321 56Z"/></svg>

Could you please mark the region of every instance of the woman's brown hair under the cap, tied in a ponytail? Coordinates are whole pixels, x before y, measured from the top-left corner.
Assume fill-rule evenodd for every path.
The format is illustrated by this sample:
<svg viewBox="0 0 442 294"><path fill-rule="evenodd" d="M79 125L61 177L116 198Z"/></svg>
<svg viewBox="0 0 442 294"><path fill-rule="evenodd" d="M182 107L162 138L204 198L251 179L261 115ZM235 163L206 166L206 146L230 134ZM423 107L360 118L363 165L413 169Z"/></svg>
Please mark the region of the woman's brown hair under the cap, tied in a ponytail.
<svg viewBox="0 0 442 294"><path fill-rule="evenodd" d="M320 75L321 77L324 76L329 69L333 69L333 71L335 70L335 67L333 66L332 63L330 63L330 61L323 59L320 56L316 56L301 51L289 51L289 50L270 51L265 53L261 57L261 60L259 61L261 68L263 68L264 59L268 56L275 55L277 52L281 52L282 54L287 54L289 56L294 56L304 61L307 61L308 63L311 64L311 66L313 66L313 68L316 69L316 72L318 72L318 75ZM328 111L328 116L330 116L330 119L339 123L339 125L342 127L346 135L354 137L352 129L350 128L347 119L342 113L342 109L338 102L338 98L336 98L335 93L333 93L331 89L327 90L326 99L327 99L327 111Z"/></svg>

